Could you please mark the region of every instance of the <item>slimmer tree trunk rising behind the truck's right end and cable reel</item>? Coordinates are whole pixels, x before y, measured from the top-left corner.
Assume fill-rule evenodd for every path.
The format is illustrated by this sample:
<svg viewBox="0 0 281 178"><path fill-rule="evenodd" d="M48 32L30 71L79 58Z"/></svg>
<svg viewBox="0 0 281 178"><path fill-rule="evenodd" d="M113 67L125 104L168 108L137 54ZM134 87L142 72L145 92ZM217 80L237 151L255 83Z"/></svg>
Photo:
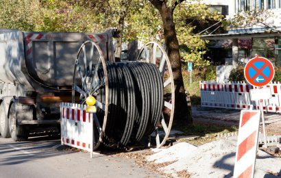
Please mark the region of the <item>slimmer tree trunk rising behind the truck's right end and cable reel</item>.
<svg viewBox="0 0 281 178"><path fill-rule="evenodd" d="M123 1L123 5L121 7L121 15L118 21L118 33L119 38L117 38L116 49L115 49L115 61L120 62L121 60L121 52L122 52L122 38L123 38L123 29L124 29L124 21L125 16L127 15L127 1Z"/></svg>

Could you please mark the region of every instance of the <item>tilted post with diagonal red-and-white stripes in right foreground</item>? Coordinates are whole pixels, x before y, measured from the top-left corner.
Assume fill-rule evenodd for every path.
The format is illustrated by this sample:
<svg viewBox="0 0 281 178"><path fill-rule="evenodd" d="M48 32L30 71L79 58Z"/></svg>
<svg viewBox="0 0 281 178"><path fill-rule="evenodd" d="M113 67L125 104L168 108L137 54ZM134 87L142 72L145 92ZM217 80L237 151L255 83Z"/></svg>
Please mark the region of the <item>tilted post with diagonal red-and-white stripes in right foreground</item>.
<svg viewBox="0 0 281 178"><path fill-rule="evenodd" d="M260 111L241 111L234 177L254 177Z"/></svg>

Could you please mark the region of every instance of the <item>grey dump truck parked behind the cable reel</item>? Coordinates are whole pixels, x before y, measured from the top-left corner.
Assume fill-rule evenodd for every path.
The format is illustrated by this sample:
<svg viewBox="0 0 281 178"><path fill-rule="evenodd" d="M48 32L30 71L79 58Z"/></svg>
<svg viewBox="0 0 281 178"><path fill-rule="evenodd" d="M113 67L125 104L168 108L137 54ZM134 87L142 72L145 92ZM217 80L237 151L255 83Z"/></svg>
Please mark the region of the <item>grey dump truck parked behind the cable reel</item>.
<svg viewBox="0 0 281 178"><path fill-rule="evenodd" d="M92 40L105 60L114 62L112 36L112 30L90 34L0 29L1 136L27 140L30 131L59 126L60 102L71 101L78 49Z"/></svg>

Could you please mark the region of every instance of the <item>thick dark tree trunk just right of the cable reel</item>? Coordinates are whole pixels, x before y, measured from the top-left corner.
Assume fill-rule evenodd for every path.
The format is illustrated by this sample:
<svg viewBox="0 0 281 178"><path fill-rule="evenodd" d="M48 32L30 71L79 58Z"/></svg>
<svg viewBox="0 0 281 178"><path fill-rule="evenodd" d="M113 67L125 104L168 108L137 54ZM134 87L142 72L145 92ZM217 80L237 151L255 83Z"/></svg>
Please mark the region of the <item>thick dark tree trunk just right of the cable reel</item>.
<svg viewBox="0 0 281 178"><path fill-rule="evenodd" d="M175 33L175 23L173 22L173 10L162 3L158 8L162 17L164 27L164 40L167 45L168 56L173 70L175 82L175 123L192 123L191 111L188 110L186 93L182 79L182 65L180 62L180 45Z"/></svg>

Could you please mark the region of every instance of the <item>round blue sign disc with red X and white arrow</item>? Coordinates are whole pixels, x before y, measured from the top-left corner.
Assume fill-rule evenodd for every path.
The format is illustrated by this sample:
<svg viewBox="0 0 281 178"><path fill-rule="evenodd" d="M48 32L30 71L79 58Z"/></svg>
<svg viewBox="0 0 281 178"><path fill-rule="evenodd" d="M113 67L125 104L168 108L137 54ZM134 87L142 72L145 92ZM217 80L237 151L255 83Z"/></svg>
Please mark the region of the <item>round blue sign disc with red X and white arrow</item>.
<svg viewBox="0 0 281 178"><path fill-rule="evenodd" d="M252 86L265 86L274 77L273 64L266 58L253 58L247 62L244 68L245 79Z"/></svg>

